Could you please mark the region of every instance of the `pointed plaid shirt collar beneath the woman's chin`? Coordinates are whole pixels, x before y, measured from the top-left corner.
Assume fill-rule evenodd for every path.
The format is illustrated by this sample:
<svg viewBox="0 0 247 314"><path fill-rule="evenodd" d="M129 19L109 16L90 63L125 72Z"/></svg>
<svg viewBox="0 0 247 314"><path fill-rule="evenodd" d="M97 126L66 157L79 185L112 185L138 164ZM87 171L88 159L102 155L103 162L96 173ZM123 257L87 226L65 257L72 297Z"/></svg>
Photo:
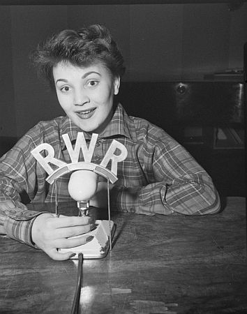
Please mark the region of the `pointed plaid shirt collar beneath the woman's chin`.
<svg viewBox="0 0 247 314"><path fill-rule="evenodd" d="M123 106L119 103L114 111L110 123L107 125L105 130L103 130L103 133L100 133L98 136L100 138L107 138L121 135L135 141L137 140L137 137L133 130L132 132L130 131L131 129L133 129L133 123L126 111L123 109ZM63 117L59 130L61 150L65 148L62 135L68 133L70 141L72 142L77 139L78 132L82 132L82 130L78 126L75 126L70 118ZM84 137L86 140L91 140L91 135L87 132L84 132Z"/></svg>

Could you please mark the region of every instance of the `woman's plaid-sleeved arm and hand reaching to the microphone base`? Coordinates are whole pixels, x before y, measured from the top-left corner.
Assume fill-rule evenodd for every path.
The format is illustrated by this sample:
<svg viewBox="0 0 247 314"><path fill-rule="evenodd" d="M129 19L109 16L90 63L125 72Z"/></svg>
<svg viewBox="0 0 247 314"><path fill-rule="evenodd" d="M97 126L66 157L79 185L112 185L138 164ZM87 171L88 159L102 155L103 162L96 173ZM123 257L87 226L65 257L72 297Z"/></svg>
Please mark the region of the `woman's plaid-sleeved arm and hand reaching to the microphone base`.
<svg viewBox="0 0 247 314"><path fill-rule="evenodd" d="M36 161L30 151L34 146L24 136L0 160L0 232L8 237L40 248L54 260L67 260L73 255L73 247L91 240L87 235L68 239L89 232L93 219L89 217L55 217L53 214L29 211L22 204L21 195L35 196L37 181ZM32 142L32 140L31 140ZM45 174L40 174L40 186L45 184ZM39 188L40 188L39 186ZM40 188L41 190L41 188ZM45 187L40 201L45 200ZM72 248L59 253L57 248Z"/></svg>

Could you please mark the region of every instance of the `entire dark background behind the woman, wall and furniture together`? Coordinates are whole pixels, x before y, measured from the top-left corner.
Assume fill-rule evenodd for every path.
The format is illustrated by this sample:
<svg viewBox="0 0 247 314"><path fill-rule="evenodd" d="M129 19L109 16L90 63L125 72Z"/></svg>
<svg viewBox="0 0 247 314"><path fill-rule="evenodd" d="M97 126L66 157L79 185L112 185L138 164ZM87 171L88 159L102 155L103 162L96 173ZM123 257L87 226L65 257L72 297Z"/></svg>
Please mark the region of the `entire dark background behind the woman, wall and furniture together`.
<svg viewBox="0 0 247 314"><path fill-rule="evenodd" d="M0 1L0 154L36 122L63 114L56 95L30 65L29 52L61 29L102 23L126 60L119 98L128 113L181 142L220 193L245 195L241 70L247 3L83 2ZM214 76L225 70L238 75ZM234 132L240 142L232 140Z"/></svg>

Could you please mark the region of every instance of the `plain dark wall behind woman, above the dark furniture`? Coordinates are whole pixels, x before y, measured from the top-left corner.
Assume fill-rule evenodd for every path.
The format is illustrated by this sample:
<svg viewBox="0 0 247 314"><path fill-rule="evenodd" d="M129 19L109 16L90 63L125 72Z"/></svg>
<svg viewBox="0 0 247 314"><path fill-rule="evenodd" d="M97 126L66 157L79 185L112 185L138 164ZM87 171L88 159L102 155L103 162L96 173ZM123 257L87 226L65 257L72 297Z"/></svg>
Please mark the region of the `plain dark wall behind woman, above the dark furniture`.
<svg viewBox="0 0 247 314"><path fill-rule="evenodd" d="M0 136L20 137L63 114L29 52L51 33L93 23L112 31L128 82L203 80L205 73L243 67L247 3L234 11L226 3L0 6Z"/></svg>

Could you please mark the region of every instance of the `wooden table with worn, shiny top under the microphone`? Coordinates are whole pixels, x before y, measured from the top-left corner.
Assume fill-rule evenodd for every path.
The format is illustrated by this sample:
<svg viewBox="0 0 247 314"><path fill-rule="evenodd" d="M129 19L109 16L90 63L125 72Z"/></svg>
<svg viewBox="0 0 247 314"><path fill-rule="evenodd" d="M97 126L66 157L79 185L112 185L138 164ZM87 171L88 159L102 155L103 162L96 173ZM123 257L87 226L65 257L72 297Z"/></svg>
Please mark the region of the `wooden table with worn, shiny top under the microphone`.
<svg viewBox="0 0 247 314"><path fill-rule="evenodd" d="M112 252L84 260L80 313L247 313L245 198L228 198L215 216L113 212L112 220ZM0 253L1 314L70 313L77 261L3 236Z"/></svg>

